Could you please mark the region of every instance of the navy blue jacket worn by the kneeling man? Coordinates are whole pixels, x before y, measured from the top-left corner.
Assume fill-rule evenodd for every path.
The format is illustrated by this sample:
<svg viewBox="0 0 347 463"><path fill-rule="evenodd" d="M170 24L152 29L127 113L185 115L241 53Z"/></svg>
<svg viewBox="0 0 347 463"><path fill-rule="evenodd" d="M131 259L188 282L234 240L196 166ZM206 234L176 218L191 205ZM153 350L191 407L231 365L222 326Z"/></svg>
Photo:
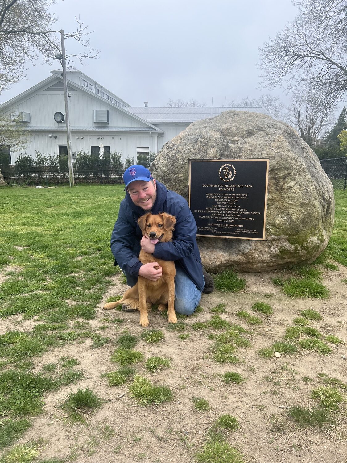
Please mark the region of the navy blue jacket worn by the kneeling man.
<svg viewBox="0 0 347 463"><path fill-rule="evenodd" d="M185 270L192 282L202 291L204 279L201 257L196 242L197 226L187 201L165 185L156 181L156 200L152 214L166 212L176 217L173 241L155 244L153 256L157 259L175 261L176 266ZM120 203L118 219L111 236L111 250L116 259L115 265L125 272L138 277L143 265L139 260L142 232L137 219L147 212L136 206L127 192Z"/></svg>

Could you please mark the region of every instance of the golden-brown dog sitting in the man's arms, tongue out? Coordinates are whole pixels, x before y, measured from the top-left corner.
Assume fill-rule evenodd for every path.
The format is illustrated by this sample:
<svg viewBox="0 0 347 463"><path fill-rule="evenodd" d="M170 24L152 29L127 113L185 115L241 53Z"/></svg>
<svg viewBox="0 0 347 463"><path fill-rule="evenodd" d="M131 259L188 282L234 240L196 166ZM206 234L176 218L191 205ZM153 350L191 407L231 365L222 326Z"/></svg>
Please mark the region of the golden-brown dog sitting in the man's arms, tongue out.
<svg viewBox="0 0 347 463"><path fill-rule="evenodd" d="M172 241L176 223L173 215L165 212L155 215L148 213L141 216L137 223L143 235L146 235L153 244ZM104 309L110 310L119 304L130 309L136 309L140 312L140 325L145 328L149 325L148 311L151 310L152 304L159 303L159 312L163 312L167 305L167 321L177 323L174 309L174 278L176 275L174 262L156 259L152 254L148 254L144 250L140 251L139 259L143 264L158 262L162 268L161 277L156 281L152 281L139 275L136 285L125 291L121 300L105 304Z"/></svg>

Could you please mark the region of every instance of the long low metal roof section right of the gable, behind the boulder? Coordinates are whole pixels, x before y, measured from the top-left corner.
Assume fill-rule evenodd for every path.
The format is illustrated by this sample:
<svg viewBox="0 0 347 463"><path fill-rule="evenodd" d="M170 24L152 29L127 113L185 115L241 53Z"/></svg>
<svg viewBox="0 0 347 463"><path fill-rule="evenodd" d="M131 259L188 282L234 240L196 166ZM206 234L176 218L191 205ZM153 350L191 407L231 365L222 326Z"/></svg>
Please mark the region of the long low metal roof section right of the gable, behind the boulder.
<svg viewBox="0 0 347 463"><path fill-rule="evenodd" d="M126 111L141 117L152 124L181 122L191 123L196 120L206 119L209 117L218 116L224 111L248 111L249 113L263 113L271 116L271 114L262 107L213 107L213 108L151 108L151 107L130 107ZM272 117L272 116L271 116Z"/></svg>

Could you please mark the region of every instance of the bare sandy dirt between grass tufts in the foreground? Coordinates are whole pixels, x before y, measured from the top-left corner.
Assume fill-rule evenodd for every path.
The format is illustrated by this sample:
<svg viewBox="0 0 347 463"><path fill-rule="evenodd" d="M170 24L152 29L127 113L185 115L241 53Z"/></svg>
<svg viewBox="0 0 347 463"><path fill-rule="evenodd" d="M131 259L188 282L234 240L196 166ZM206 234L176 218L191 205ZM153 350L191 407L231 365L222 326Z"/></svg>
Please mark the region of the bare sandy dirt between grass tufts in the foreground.
<svg viewBox="0 0 347 463"><path fill-rule="evenodd" d="M157 311L149 314L149 329L160 329L165 339L158 344L147 344L140 336L143 328L138 325L138 313L122 313L116 310L105 312L104 301L111 295L123 294L127 288L120 276L113 277L104 300L98 307L97 320L93 328L107 325L102 336L111 339L110 344L92 349L90 339L84 343L68 344L43 355L36 361L36 368L54 362L63 355L70 355L80 362L87 379L76 385L66 386L57 392L46 394L44 412L34 420L33 427L25 433L19 443L42 437L46 444L43 457L67 457L76 463L87 462L193 462L194 454L202 450L208 431L223 413L235 416L240 424L236 432L227 434L227 442L240 450L245 462L289 463L289 462L347 462L347 424L343 419L337 425L320 428L300 428L288 417L290 406L313 406L310 399L312 388L321 385L319 373L347 382L347 269L324 270L324 283L331 291L326 300L291 299L271 282L271 277L281 272L266 274L240 274L247 286L239 293L223 294L214 291L204 294L200 302L203 312L187 317L186 333L190 338L181 340L178 332L167 329L166 318ZM254 302L262 300L273 307L273 315L260 315L262 325L250 327L236 317L240 309L250 311ZM195 331L190 325L211 318L212 307L226 304L227 313L221 317L252 330L251 347L238 349L240 362L235 365L216 363L211 355L212 341L208 332ZM324 356L299 350L295 355L262 359L257 350L275 341L283 340L285 328L292 325L298 311L312 308L322 315L322 320L312 322L323 335L335 334L343 344L331 345L333 353ZM122 318L124 323L100 322L103 317ZM3 320L1 332L8 329L29 331L35 321L23 323L18 317ZM140 406L130 398L128 384L110 387L100 375L117 369L110 361L119 334L127 329L138 336L135 349L143 352L145 360L159 355L171 359L169 369L149 374L143 362L136 363L138 373L155 384L164 384L173 391L173 400L161 405ZM210 330L210 332L216 332ZM236 371L247 381L241 385L227 385L219 375ZM303 381L310 377L311 383ZM87 425L72 424L57 409L70 389L89 386L104 398L104 405L87 419ZM211 410L201 413L194 409L192 397L208 400ZM344 406L345 411L347 404ZM344 415L346 417L346 414ZM111 427L114 434L107 437Z"/></svg>

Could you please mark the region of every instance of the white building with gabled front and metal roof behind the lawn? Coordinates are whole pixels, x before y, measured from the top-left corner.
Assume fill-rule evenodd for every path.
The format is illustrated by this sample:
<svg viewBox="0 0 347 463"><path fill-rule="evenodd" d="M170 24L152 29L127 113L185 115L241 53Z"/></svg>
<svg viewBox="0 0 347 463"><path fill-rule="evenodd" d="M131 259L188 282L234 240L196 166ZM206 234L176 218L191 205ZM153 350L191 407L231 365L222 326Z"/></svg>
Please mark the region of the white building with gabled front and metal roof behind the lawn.
<svg viewBox="0 0 347 463"><path fill-rule="evenodd" d="M24 125L29 132L30 141L21 152L33 158L36 150L42 154L67 153L62 70L51 74L0 106L0 113L11 112L16 120L13 123ZM77 69L68 68L67 79L72 152L99 152L102 142L105 153L122 151L123 159L133 157L136 162L138 153L158 152L196 120L229 109L266 113L263 108L151 108L147 103L130 107ZM58 122L59 117L62 122ZM9 154L12 164L20 154L11 144L0 145L0 150Z"/></svg>

